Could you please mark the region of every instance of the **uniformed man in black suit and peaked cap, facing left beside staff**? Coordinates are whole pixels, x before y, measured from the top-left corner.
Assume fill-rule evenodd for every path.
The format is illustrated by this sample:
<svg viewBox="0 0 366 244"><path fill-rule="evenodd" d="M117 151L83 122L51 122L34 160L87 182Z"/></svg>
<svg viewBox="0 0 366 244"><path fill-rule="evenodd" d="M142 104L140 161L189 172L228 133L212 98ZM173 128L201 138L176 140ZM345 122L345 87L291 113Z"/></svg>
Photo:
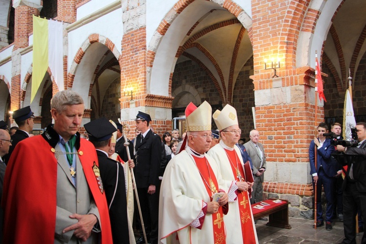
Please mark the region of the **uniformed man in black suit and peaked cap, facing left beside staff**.
<svg viewBox="0 0 366 244"><path fill-rule="evenodd" d="M139 111L136 128L141 134L135 138L135 179L142 209L147 239L158 243L159 171L162 160L162 140L149 129L150 115ZM142 230L140 231L142 234ZM143 238L137 244L143 243Z"/></svg>

